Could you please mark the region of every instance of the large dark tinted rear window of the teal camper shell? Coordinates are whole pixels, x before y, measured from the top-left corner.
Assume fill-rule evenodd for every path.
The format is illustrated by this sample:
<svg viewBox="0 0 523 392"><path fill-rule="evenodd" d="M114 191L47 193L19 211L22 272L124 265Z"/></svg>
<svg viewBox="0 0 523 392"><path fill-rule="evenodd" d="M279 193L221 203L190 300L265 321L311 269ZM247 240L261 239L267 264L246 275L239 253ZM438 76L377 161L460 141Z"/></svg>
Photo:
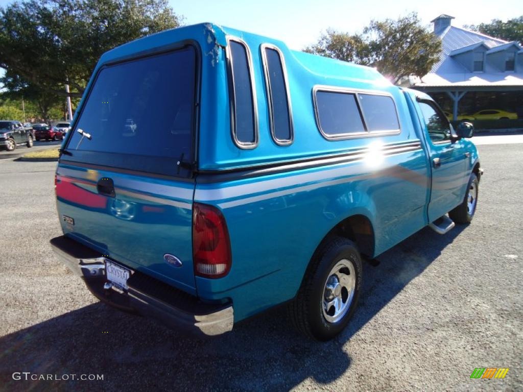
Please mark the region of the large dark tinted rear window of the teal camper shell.
<svg viewBox="0 0 523 392"><path fill-rule="evenodd" d="M67 149L192 158L196 50L101 69Z"/></svg>

